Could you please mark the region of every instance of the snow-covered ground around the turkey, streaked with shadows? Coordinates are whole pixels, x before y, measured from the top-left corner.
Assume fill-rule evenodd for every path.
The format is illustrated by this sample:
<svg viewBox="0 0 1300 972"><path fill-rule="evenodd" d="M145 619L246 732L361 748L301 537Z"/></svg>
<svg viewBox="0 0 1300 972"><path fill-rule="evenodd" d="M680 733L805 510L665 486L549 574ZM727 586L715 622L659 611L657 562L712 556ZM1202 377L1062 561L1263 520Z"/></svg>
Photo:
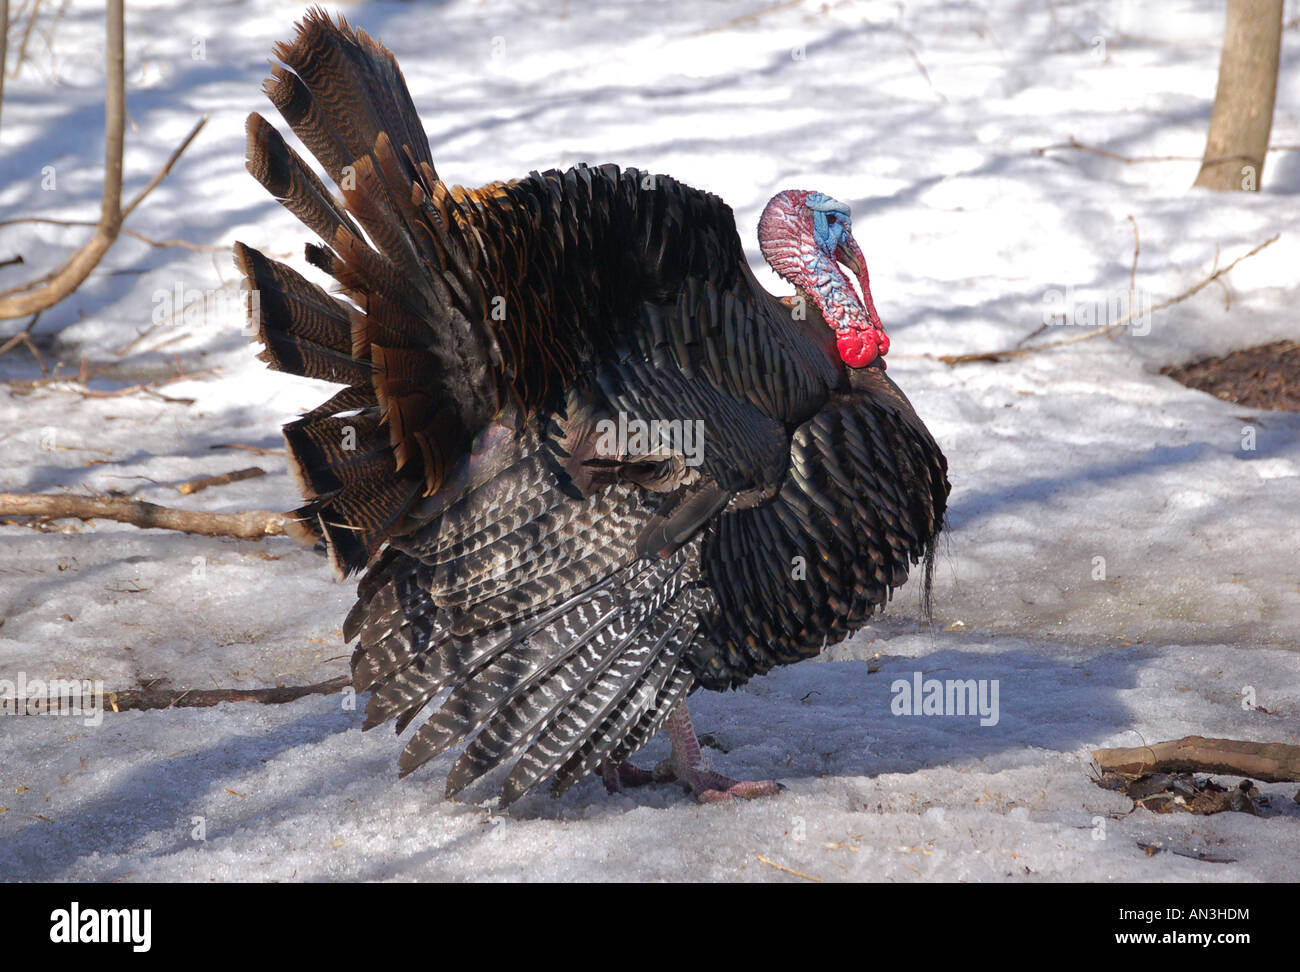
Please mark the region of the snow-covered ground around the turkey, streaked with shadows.
<svg viewBox="0 0 1300 972"><path fill-rule="evenodd" d="M98 213L101 9L74 0L57 25L43 13L29 61L6 81L0 220ZM231 286L235 239L302 252L307 231L243 169L243 120L268 112L265 61L303 9L127 5L127 195L211 116L129 225L214 249L124 237L36 333L65 370L82 355L104 366L99 390L165 378L177 364L203 374L160 389L190 404L84 399L22 386L39 370L25 350L9 352L0 490L295 505L282 457L212 447L278 447L278 425L325 386L266 372L229 301L153 321L177 309L177 287L190 303ZM1300 742L1300 416L1158 374L1300 333L1300 152L1270 153L1258 194L1213 195L1191 188L1195 161L1035 151L1074 136L1124 156L1199 156L1221 4L338 9L396 52L448 181L577 161L671 173L734 207L755 268L754 222L777 190L853 204L893 339L890 374L952 469L936 625L918 626L909 585L824 663L697 694L697 726L729 750L715 765L788 787L740 806L698 806L670 786L610 797L588 780L495 816L442 799L450 758L399 782L399 743L382 729L363 735L339 695L108 712L99 725L3 719L0 878L798 880L775 865L826 880L1300 876L1294 784L1261 786L1262 817L1153 816L1128 813L1088 777L1098 746L1191 733ZM1296 29L1283 40L1273 142L1300 144ZM1053 290L1126 301L1134 224L1136 286L1152 304L1195 286L1216 259L1280 238L1118 339L1002 364L930 357L1015 344L1058 309ZM0 269L0 288L56 265L88 233L0 227L0 260L26 260ZM1054 326L1037 340L1076 333ZM269 474L174 490L246 465ZM347 668L351 589L286 539L3 526L0 680L178 691L322 681ZM914 672L996 680L996 724L894 715L893 685ZM656 741L641 760L666 750Z"/></svg>

